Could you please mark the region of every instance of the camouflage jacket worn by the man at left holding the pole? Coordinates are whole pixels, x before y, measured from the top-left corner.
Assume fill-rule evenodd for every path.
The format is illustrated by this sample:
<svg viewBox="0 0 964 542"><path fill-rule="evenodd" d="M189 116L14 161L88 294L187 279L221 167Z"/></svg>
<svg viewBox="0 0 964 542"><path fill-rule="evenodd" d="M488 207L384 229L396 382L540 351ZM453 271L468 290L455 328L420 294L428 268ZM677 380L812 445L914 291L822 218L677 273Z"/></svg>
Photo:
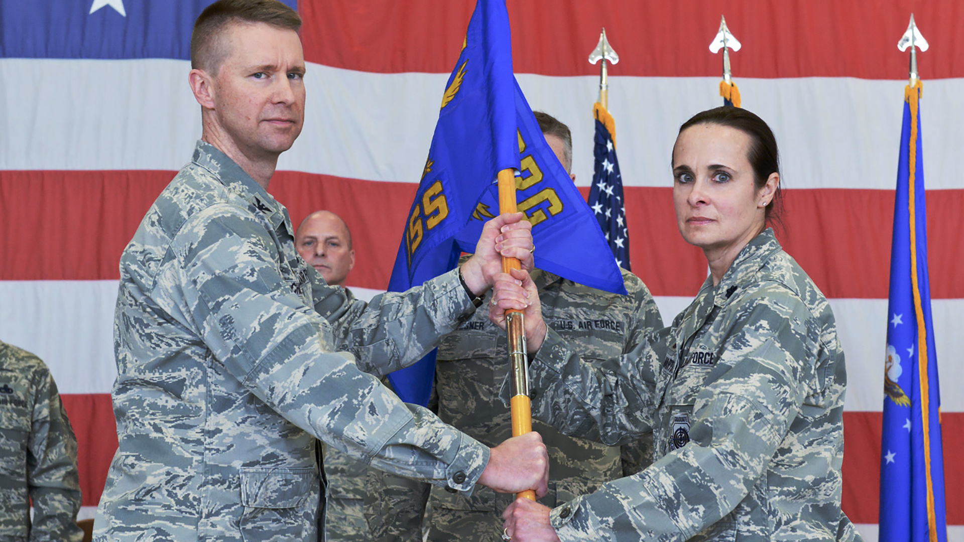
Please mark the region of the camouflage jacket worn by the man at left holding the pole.
<svg viewBox="0 0 964 542"><path fill-rule="evenodd" d="M120 447L95 540L313 542L315 438L472 491L489 448L379 383L473 311L457 272L349 302L292 231L281 203L203 142L147 211L120 258Z"/></svg>

